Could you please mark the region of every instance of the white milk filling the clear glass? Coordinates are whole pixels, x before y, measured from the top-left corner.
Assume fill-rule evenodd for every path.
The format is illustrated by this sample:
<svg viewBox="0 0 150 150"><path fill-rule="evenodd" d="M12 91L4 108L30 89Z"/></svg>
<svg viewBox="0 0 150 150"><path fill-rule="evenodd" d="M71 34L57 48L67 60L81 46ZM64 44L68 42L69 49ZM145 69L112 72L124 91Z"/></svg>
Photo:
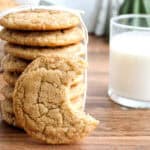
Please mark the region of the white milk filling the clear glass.
<svg viewBox="0 0 150 150"><path fill-rule="evenodd" d="M150 101L150 33L112 37L109 88L122 97Z"/></svg>

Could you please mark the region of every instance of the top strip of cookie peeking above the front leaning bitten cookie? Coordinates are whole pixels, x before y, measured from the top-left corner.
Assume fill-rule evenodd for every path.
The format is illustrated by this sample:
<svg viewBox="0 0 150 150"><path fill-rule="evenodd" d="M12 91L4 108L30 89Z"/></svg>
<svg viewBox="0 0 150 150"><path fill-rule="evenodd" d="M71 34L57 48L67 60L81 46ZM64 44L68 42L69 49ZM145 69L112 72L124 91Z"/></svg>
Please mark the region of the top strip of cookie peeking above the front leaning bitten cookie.
<svg viewBox="0 0 150 150"><path fill-rule="evenodd" d="M77 56L74 56L73 58L68 58L64 56L52 55L52 57L42 56L35 59L34 61L32 61L32 63L30 63L26 67L24 73L36 71L41 68L45 68L46 70L57 69L62 72L65 71L68 71L70 73L77 72L77 76L76 78L74 78L77 79L77 77L82 77L83 70L85 70L86 67L87 67L87 62L85 62L84 59L79 58ZM74 72L70 70L74 70Z"/></svg>

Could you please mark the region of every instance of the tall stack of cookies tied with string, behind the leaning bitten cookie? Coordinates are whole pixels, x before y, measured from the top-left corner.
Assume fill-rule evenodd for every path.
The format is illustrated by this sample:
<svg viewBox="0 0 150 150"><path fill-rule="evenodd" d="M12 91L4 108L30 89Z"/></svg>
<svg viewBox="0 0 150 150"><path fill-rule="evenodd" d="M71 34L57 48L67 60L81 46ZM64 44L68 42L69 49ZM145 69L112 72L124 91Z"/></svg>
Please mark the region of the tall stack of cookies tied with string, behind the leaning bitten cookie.
<svg viewBox="0 0 150 150"><path fill-rule="evenodd" d="M7 82L1 91L10 106L18 77L34 59L43 55L80 57L85 53L82 49L84 34L80 27L80 19L70 12L27 10L4 16L0 19L0 24L4 27L0 32L0 38L6 41L6 55L1 64L4 70L3 78ZM81 108L81 97L84 93L83 75L72 82L71 88L71 100ZM12 116L11 122L7 121L5 112ZM5 121L14 124L12 109L8 112L4 108L2 114Z"/></svg>

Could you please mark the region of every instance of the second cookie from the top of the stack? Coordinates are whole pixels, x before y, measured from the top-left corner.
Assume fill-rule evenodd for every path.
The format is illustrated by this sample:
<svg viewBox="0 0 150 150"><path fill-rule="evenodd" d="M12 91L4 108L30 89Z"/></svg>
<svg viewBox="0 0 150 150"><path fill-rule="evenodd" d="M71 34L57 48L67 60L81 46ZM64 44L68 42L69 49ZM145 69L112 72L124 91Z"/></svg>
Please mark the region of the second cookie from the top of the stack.
<svg viewBox="0 0 150 150"><path fill-rule="evenodd" d="M15 31L3 29L0 38L10 43L26 46L67 46L83 40L79 27L59 31Z"/></svg>

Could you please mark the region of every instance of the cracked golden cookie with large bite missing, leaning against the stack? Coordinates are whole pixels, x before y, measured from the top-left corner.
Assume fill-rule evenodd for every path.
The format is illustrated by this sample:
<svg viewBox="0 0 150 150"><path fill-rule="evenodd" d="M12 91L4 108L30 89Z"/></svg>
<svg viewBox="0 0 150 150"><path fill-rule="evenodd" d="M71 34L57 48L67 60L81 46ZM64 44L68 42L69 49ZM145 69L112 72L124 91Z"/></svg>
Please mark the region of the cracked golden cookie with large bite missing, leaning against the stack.
<svg viewBox="0 0 150 150"><path fill-rule="evenodd" d="M83 74L85 65L80 59L61 58L61 65L60 58L45 59L42 68L22 74L17 80L13 94L15 116L30 136L45 143L76 142L98 124L70 102L70 82ZM45 63L51 59L55 60L53 65Z"/></svg>

